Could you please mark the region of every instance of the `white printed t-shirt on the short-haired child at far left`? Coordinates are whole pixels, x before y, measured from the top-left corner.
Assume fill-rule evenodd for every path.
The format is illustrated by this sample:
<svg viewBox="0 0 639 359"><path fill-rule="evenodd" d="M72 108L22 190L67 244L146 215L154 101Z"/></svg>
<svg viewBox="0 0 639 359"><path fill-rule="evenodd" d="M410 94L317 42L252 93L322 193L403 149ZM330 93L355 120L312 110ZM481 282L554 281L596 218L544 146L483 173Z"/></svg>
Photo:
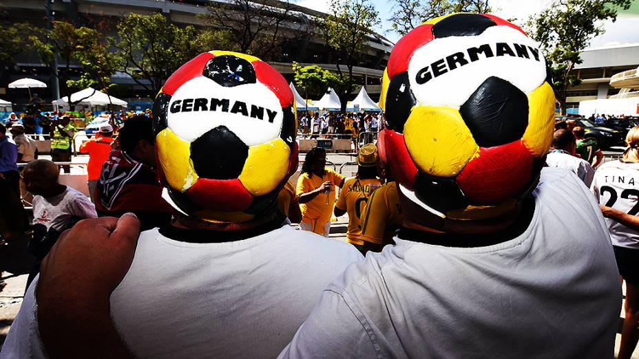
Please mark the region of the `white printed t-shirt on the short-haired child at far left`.
<svg viewBox="0 0 639 359"><path fill-rule="evenodd" d="M33 224L43 224L47 230L61 230L72 217L98 217L96 206L80 191L67 186L54 197L33 197Z"/></svg>

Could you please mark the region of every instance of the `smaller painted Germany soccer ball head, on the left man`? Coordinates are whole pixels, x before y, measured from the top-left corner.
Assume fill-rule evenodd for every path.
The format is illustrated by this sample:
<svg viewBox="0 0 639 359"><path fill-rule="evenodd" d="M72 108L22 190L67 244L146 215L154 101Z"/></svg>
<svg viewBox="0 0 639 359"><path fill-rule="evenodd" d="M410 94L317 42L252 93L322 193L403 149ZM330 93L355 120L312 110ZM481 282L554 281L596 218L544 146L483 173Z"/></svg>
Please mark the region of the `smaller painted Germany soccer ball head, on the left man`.
<svg viewBox="0 0 639 359"><path fill-rule="evenodd" d="M269 208L297 167L294 106L286 80L254 56L211 51L182 65L153 108L172 205L220 222Z"/></svg>

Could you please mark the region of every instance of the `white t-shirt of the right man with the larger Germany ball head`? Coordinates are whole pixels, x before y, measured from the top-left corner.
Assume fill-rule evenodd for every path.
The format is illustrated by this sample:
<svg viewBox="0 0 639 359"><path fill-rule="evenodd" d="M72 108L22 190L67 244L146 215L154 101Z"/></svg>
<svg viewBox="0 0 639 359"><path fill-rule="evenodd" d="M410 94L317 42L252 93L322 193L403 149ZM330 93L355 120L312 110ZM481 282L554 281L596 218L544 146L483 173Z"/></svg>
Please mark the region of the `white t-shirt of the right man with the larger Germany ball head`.
<svg viewBox="0 0 639 359"><path fill-rule="evenodd" d="M621 288L603 216L544 168L522 235L479 248L395 238L324 290L293 358L612 358Z"/></svg>

